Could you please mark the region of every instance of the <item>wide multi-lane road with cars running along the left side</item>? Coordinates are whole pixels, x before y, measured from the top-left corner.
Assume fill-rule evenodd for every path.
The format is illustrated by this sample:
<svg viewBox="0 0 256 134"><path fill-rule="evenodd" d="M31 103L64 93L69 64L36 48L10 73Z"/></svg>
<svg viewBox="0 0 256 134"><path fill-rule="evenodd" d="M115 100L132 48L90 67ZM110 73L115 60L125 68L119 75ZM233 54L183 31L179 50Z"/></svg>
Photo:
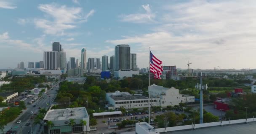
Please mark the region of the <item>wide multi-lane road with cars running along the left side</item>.
<svg viewBox="0 0 256 134"><path fill-rule="evenodd" d="M8 126L5 127L4 131L13 129L13 130L17 131L17 134L28 134L28 131L31 131L31 129L32 129L32 134L37 134L36 133L38 131L37 125L34 125L33 119L30 119L30 118L31 118L31 116L35 116L34 113L38 113L39 107L48 109L48 107L51 106L51 103L53 103L52 102L53 99L57 95L56 90L58 88L59 88L59 82L57 82L55 85L53 85L53 87L52 87L53 90L51 90L51 89L47 90L46 93L43 94L43 96L41 98L39 98L34 103L27 105L27 110L24 111L24 113L20 117L18 117L13 122L13 124L8 124ZM28 98L27 100L29 100L29 99L31 100L32 97ZM33 107L34 104L36 104L35 107ZM30 113L31 111L33 111L33 114ZM16 122L19 120L21 120L21 123L17 124ZM32 126L25 126L26 123L30 123Z"/></svg>

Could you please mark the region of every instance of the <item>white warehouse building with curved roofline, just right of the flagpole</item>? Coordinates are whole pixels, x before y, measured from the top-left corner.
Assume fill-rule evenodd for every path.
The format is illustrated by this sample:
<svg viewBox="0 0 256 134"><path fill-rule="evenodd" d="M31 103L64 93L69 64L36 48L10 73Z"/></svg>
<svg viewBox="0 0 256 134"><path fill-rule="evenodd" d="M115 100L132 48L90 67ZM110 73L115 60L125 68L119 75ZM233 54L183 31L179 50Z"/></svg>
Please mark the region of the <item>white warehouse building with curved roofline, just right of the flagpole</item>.
<svg viewBox="0 0 256 134"><path fill-rule="evenodd" d="M150 96L152 98L159 98L157 106L166 107L179 105L179 103L195 102L195 96L179 94L179 89L174 87L164 88L163 86L150 85Z"/></svg>

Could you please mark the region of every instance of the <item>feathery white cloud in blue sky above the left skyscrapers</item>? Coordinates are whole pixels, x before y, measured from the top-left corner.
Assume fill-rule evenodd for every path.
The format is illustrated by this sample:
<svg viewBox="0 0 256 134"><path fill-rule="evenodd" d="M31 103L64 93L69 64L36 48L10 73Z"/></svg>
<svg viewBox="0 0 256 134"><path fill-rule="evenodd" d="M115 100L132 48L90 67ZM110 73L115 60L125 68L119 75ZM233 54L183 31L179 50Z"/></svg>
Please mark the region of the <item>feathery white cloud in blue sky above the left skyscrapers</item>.
<svg viewBox="0 0 256 134"><path fill-rule="evenodd" d="M94 12L94 10L93 12L90 11L84 18L82 8L67 7L56 3L40 4L38 9L46 13L46 18L51 18L51 20L35 19L35 26L42 28L44 33L55 36L67 35L65 30L76 28L78 22L86 22Z"/></svg>

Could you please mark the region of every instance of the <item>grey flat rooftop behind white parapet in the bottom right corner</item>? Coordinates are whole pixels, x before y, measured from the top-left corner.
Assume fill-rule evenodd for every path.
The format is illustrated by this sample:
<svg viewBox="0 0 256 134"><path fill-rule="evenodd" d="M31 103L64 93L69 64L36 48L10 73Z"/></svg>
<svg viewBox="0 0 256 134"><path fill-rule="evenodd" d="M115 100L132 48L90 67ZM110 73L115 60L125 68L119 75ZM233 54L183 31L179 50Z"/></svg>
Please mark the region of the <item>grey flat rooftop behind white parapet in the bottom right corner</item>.
<svg viewBox="0 0 256 134"><path fill-rule="evenodd" d="M171 131L160 134L255 134L256 124L251 122L248 124L232 124L225 126L212 126L195 130Z"/></svg>

